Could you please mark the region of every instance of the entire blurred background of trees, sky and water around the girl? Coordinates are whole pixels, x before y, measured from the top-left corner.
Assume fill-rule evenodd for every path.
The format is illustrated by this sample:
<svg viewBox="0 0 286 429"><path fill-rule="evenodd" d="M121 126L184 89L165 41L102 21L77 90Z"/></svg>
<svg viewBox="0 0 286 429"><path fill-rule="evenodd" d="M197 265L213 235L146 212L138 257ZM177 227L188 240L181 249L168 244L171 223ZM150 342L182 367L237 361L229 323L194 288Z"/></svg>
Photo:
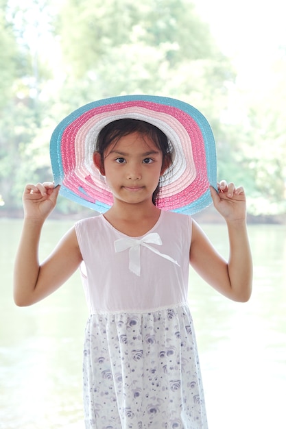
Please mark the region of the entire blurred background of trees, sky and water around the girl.
<svg viewBox="0 0 286 429"><path fill-rule="evenodd" d="M285 2L0 4L0 428L84 427L80 276L31 308L12 302L21 195L26 182L52 180L49 139L67 114L96 99L144 93L201 110L215 134L219 179L248 195L250 302L230 302L190 278L209 429L285 429ZM91 215L59 197L40 258ZM213 208L196 218L227 257Z"/></svg>

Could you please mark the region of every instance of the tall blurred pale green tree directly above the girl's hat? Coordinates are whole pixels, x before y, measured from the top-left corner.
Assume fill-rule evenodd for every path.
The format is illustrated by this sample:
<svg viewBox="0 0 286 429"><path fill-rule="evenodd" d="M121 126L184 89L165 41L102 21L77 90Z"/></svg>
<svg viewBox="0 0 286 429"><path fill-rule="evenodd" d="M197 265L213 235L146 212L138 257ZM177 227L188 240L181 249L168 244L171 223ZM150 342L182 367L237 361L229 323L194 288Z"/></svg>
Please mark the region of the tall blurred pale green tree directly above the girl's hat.
<svg viewBox="0 0 286 429"><path fill-rule="evenodd" d="M71 110L113 95L160 94L219 123L235 73L191 1L70 0L56 31L65 71L60 100Z"/></svg>

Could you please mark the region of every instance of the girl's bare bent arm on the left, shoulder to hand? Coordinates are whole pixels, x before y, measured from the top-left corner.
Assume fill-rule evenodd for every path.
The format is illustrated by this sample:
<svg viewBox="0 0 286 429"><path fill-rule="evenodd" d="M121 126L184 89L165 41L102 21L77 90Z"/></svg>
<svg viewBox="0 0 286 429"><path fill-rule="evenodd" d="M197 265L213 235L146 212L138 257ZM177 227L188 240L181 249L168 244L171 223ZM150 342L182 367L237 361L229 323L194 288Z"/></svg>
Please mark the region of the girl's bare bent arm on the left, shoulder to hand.
<svg viewBox="0 0 286 429"><path fill-rule="evenodd" d="M43 264L38 261L40 233L56 206L58 191L49 182L25 187L23 231L14 265L14 301L18 306L29 306L56 291L82 261L74 228Z"/></svg>

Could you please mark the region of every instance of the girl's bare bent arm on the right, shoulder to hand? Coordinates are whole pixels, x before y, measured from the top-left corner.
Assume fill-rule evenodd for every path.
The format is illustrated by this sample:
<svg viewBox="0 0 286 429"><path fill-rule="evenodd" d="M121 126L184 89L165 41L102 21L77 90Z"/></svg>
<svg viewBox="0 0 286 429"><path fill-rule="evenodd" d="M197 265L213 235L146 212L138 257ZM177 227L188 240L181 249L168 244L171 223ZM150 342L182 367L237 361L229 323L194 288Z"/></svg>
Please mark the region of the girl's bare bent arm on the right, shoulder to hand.
<svg viewBox="0 0 286 429"><path fill-rule="evenodd" d="M220 182L219 193L211 188L213 203L228 227L228 262L211 245L193 221L190 263L217 291L230 299L246 302L252 290L252 257L246 229L246 196L243 188Z"/></svg>

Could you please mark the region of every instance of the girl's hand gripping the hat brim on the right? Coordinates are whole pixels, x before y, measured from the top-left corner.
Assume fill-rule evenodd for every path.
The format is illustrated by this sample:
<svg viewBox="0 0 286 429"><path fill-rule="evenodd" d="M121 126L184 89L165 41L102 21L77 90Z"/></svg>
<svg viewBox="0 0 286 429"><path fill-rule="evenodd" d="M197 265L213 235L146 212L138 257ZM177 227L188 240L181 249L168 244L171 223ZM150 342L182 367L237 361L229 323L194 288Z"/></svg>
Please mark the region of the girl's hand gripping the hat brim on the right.
<svg viewBox="0 0 286 429"><path fill-rule="evenodd" d="M217 183L218 191L210 187L213 205L226 221L244 221L246 219L246 193L242 186L222 180Z"/></svg>

